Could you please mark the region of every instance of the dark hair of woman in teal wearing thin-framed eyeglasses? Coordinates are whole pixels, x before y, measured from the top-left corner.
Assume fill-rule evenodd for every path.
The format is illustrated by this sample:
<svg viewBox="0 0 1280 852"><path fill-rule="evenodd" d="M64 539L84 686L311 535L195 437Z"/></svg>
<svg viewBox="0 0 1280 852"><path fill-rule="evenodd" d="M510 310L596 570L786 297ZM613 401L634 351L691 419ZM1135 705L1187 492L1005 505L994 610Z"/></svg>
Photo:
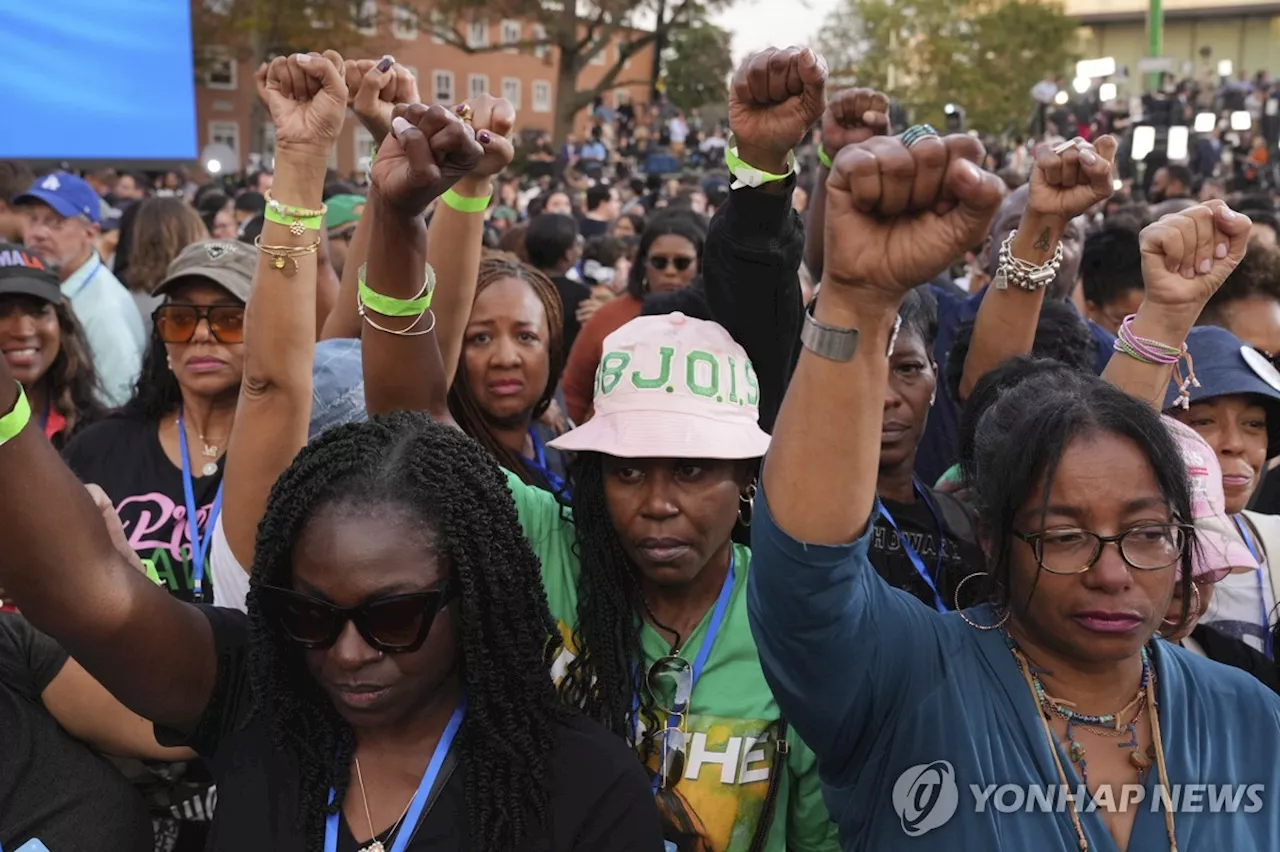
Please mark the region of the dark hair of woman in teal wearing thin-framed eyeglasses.
<svg viewBox="0 0 1280 852"><path fill-rule="evenodd" d="M1151 464L1160 494L1181 523L1192 522L1192 494L1187 466L1160 414L1140 400L1092 375L1061 365L1023 366L1024 375L1009 384L978 421L973 464L966 471L978 521L995 544L991 555L989 601L1025 611L1027 601L1010 597L1014 521L1042 489L1044 505L1068 444L1091 434L1110 432L1133 441ZM1194 536L1183 551L1183 620L1192 601ZM1039 574L1037 573L1037 580Z"/></svg>

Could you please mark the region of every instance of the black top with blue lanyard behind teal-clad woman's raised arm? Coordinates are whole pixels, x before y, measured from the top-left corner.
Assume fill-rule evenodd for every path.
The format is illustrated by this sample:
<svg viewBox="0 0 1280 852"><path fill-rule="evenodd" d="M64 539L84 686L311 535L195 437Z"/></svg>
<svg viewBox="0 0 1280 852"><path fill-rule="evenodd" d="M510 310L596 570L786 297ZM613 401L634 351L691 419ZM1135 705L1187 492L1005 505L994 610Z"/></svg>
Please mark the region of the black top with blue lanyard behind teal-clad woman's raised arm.
<svg viewBox="0 0 1280 852"><path fill-rule="evenodd" d="M950 494L938 494L923 486L922 490L924 499L919 499L916 495L914 503L895 503L883 498L881 498L881 503L888 509L893 521L897 522L899 530L902 531L902 536L920 556L920 562L924 563L925 571L929 572L929 577L933 578L933 583L942 596L943 605L947 609L955 609L956 588L960 581L969 574L983 573L986 558L982 548L978 546L972 510ZM938 571L940 535L941 572ZM884 519L884 516L876 519L876 531L872 536L868 559L876 568L876 573L883 577L890 586L901 588L924 601L931 609L933 608L933 592L911 564L901 539ZM964 587L966 599L960 601L961 608L978 603L975 595L988 591L989 587L986 583L974 580Z"/></svg>

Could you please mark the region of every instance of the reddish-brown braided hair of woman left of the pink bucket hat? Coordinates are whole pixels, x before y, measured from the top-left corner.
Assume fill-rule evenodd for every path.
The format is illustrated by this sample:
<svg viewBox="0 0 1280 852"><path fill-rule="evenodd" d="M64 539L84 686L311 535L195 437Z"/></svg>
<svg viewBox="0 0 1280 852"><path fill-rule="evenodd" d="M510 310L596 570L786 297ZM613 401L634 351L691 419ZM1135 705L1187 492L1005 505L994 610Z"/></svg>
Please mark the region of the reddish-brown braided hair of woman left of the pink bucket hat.
<svg viewBox="0 0 1280 852"><path fill-rule="evenodd" d="M550 279L539 272L532 266L522 264L513 255L493 253L480 261L480 274L476 280L476 298L490 285L503 279L515 278L524 281L543 303L547 315L547 386L530 414L530 420L538 420L550 406L556 397L556 388L559 386L561 374L564 371L564 320L561 307L559 290ZM465 344L463 344L465 345ZM467 383L467 359L458 359L458 372L449 388L449 413L458 426L471 438L480 441L489 453L498 459L498 463L515 473L526 485L553 491L550 484L543 475L525 463L524 455L503 445L489 430L489 416L481 408L480 402L471 393Z"/></svg>

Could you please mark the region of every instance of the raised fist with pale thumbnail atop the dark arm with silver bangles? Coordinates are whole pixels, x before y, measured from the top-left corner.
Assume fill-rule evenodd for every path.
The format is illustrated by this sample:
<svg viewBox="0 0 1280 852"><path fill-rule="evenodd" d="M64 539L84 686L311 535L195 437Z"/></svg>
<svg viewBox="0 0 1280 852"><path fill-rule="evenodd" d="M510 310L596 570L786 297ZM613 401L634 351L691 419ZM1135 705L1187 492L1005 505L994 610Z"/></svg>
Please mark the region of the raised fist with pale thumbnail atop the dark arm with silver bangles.
<svg viewBox="0 0 1280 852"><path fill-rule="evenodd" d="M378 150L372 182L381 197L407 215L419 216L445 189L476 168L493 137L444 106L399 105L392 132Z"/></svg>

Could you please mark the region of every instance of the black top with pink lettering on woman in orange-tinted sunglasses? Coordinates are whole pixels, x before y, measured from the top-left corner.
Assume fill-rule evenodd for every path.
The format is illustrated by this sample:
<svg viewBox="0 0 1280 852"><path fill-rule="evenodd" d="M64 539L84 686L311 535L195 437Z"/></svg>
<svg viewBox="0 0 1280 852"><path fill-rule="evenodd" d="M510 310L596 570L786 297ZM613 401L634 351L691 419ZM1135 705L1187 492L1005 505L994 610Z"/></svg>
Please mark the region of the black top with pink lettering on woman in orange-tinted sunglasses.
<svg viewBox="0 0 1280 852"><path fill-rule="evenodd" d="M205 519L223 481L218 473L201 476L201 448L192 446L192 486L200 535L206 535ZM116 416L93 423L79 432L63 450L63 458L82 482L101 486L111 498L124 535L142 559L155 565L160 580L174 597L193 600L191 536L187 532L182 468L174 466L160 445L160 426L155 421ZM212 600L212 582L205 565L205 600Z"/></svg>

